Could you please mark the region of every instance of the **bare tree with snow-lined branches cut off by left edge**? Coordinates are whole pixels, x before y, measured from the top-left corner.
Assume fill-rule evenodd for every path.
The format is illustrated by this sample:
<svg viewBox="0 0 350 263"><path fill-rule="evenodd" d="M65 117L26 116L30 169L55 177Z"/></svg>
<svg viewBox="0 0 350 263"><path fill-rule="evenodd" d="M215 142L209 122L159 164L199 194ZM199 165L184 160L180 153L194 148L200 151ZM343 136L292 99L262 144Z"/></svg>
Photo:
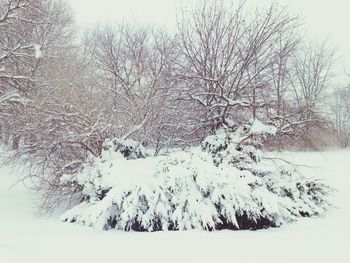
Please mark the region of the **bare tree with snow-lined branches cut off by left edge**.
<svg viewBox="0 0 350 263"><path fill-rule="evenodd" d="M5 140L19 144L26 106L46 78L57 47L67 46L71 16L59 1L0 2L0 126ZM57 62L57 59L55 60Z"/></svg>

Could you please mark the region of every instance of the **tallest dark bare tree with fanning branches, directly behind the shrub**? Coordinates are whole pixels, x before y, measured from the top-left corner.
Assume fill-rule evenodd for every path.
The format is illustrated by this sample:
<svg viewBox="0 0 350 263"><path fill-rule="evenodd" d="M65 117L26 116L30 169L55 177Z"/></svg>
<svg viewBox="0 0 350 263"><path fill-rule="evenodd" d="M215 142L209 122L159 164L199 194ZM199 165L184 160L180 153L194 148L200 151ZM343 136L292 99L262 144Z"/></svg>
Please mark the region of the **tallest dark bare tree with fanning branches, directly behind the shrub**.
<svg viewBox="0 0 350 263"><path fill-rule="evenodd" d="M184 100L198 105L197 123L215 130L229 119L255 117L257 109L271 105L257 92L269 86L276 40L295 27L296 19L276 6L250 13L245 2L204 2L189 15L181 13L184 62L179 75L186 83Z"/></svg>

